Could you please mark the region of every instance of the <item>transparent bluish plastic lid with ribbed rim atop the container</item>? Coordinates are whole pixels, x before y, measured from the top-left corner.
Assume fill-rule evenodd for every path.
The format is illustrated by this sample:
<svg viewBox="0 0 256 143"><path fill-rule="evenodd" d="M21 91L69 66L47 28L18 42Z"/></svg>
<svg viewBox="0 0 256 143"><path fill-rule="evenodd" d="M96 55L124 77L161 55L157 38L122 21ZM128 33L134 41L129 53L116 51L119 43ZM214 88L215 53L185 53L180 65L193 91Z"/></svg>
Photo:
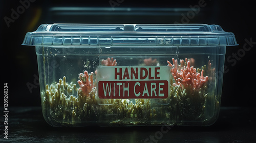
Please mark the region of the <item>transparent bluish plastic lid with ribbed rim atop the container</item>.
<svg viewBox="0 0 256 143"><path fill-rule="evenodd" d="M23 45L237 45L218 25L44 24L28 32Z"/></svg>

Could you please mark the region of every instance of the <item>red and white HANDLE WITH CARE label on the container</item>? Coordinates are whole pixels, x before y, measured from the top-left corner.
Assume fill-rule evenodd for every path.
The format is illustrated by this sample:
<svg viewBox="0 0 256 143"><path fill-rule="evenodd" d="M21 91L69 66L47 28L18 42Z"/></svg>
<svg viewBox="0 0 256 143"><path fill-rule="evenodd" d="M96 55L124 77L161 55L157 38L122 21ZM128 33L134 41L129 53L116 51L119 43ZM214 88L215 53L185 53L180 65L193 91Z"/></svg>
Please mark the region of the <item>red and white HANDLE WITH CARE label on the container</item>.
<svg viewBox="0 0 256 143"><path fill-rule="evenodd" d="M165 99L169 94L168 66L99 66L100 99Z"/></svg>

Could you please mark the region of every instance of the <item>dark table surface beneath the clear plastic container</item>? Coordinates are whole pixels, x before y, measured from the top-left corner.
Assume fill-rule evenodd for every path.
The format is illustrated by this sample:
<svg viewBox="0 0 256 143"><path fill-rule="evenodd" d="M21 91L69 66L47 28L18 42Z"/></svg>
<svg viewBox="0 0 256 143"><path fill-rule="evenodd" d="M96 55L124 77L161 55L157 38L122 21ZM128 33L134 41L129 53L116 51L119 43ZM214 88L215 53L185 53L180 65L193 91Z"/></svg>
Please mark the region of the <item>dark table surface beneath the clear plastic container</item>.
<svg viewBox="0 0 256 143"><path fill-rule="evenodd" d="M222 107L214 125L174 126L167 133L160 133L160 126L52 127L44 120L41 107L8 110L8 139L2 122L0 142L256 142L256 108L249 107Z"/></svg>

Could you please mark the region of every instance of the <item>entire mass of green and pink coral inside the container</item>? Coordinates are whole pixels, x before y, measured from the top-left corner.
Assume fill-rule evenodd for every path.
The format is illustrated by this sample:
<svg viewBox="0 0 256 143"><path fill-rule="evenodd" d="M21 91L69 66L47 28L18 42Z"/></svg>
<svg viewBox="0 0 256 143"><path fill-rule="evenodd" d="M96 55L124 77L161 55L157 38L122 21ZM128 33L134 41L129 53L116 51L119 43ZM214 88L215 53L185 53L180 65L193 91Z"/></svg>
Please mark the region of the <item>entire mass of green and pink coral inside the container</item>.
<svg viewBox="0 0 256 143"><path fill-rule="evenodd" d="M152 59L145 59L152 64ZM145 61L144 60L144 61ZM155 61L155 60L153 60ZM167 61L170 73L170 94L167 99L99 99L97 97L96 71L79 74L78 87L67 83L66 77L46 85L41 92L42 107L48 122L54 126L109 125L160 125L184 124L204 121L207 100L219 107L216 96L208 93L208 74L214 73L211 63L202 69L190 66L189 59ZM115 66L116 60L108 58L102 65ZM206 75L207 74L207 75ZM164 104L158 104L158 103ZM215 110L215 109L214 109Z"/></svg>

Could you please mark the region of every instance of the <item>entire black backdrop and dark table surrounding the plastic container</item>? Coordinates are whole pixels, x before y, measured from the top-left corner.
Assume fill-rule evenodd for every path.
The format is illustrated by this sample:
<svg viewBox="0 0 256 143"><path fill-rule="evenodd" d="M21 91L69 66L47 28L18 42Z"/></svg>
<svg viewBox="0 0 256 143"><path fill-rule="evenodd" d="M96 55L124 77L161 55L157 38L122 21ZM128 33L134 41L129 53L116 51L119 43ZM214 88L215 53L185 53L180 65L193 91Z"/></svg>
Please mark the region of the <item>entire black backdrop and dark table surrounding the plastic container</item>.
<svg viewBox="0 0 256 143"><path fill-rule="evenodd" d="M21 0L22 2L28 0ZM33 0L30 0L33 1ZM233 32L238 46L226 50L220 115L209 127L172 127L159 142L255 142L255 47L230 62L243 52L247 40L256 42L254 1L205 0L197 14L184 21L182 15L193 12L201 0L186 1L55 1L34 0L24 10L19 0L0 2L1 53L3 83L8 83L8 137L0 142L145 142L160 127L51 127L42 117L39 86L32 91L27 83L37 84L37 58L34 46L21 45L27 32L35 31L42 23L206 23L220 25ZM118 2L114 9L110 3ZM254 2L254 3L253 3ZM20 13L9 27L5 17L12 9ZM71 7L71 8L67 8ZM183 18L183 21L182 21ZM246 40L247 39L247 40ZM248 48L247 44L247 48ZM241 53L240 53L241 54ZM236 63L234 63L236 62ZM2 86L4 86L2 83ZM1 101L2 105L4 100ZM23 106L23 107L20 107ZM31 106L31 107L28 107ZM35 107L37 106L37 107ZM0 107L1 130L4 129L3 110ZM2 132L3 133L3 132Z"/></svg>

